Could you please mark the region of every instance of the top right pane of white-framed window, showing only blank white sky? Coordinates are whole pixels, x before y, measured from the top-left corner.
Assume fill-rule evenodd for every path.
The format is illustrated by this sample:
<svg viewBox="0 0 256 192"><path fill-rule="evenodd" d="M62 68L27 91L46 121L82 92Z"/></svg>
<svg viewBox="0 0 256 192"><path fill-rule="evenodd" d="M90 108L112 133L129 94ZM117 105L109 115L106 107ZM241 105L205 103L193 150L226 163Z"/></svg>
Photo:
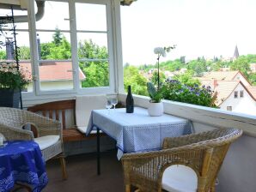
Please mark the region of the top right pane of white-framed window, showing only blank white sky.
<svg viewBox="0 0 256 192"><path fill-rule="evenodd" d="M76 28L107 31L106 5L76 3Z"/></svg>

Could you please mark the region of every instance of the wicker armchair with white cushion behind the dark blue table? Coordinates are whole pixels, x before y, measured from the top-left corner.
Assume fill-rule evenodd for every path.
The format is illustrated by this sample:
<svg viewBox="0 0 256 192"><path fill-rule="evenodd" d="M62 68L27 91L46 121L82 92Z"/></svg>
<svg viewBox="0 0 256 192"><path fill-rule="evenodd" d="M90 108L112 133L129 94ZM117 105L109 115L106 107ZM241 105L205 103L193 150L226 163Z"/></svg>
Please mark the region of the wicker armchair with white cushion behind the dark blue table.
<svg viewBox="0 0 256 192"><path fill-rule="evenodd" d="M34 138L33 131L22 129L27 124L31 124L31 127L36 129L36 138ZM0 107L0 133L7 141L33 140L37 142L45 160L53 157L60 159L63 178L66 179L62 129L58 121L30 111Z"/></svg>

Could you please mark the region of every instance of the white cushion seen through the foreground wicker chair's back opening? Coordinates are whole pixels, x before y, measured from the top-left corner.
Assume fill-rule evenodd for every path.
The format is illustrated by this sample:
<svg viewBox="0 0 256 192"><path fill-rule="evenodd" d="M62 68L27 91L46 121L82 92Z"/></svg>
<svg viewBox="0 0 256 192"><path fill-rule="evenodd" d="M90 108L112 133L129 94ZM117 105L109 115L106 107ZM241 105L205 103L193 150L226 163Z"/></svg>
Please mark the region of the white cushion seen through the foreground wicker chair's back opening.
<svg viewBox="0 0 256 192"><path fill-rule="evenodd" d="M198 177L192 168L185 165L172 165L162 176L162 189L172 192L196 192Z"/></svg>

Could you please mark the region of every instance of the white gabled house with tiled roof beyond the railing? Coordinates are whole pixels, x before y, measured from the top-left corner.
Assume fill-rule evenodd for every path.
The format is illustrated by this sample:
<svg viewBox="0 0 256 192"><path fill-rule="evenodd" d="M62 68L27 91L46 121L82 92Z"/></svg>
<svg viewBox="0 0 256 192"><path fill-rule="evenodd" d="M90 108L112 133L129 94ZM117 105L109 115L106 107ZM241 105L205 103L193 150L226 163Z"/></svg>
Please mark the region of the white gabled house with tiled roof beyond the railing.
<svg viewBox="0 0 256 192"><path fill-rule="evenodd" d="M256 87L240 71L211 72L198 80L217 93L220 109L256 115Z"/></svg>

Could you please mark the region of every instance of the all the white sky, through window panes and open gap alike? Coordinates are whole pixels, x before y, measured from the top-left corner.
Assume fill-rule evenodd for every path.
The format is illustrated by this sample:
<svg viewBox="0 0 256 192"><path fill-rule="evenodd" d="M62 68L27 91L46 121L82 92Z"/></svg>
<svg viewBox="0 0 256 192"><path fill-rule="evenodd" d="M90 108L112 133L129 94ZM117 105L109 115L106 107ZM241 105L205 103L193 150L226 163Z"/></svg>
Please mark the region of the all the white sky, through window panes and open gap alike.
<svg viewBox="0 0 256 192"><path fill-rule="evenodd" d="M107 30L105 6L77 3L76 9L78 29ZM256 54L255 9L255 0L137 0L121 6L123 63L154 64L154 48L169 45L176 49L161 62L182 56L187 60L233 57L235 45L241 55ZM37 28L69 29L67 13L68 3L46 2L46 14ZM20 14L26 15L16 12ZM27 23L18 27L27 28ZM70 40L69 33L64 35ZM18 45L28 45L28 33L21 36ZM106 33L78 33L77 38L107 46ZM40 40L51 41L52 33L41 32Z"/></svg>

